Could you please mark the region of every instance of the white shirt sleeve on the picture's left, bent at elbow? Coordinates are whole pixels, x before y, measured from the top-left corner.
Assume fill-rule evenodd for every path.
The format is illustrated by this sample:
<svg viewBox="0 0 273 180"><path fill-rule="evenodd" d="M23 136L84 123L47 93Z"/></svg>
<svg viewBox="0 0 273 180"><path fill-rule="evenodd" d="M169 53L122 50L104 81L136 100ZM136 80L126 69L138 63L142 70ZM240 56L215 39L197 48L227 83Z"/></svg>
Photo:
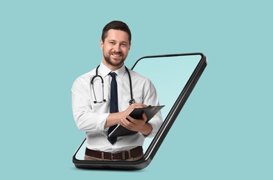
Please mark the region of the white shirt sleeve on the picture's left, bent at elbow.
<svg viewBox="0 0 273 180"><path fill-rule="evenodd" d="M109 113L92 111L87 82L78 78L72 86L72 111L78 129L89 132L92 130L103 131Z"/></svg>

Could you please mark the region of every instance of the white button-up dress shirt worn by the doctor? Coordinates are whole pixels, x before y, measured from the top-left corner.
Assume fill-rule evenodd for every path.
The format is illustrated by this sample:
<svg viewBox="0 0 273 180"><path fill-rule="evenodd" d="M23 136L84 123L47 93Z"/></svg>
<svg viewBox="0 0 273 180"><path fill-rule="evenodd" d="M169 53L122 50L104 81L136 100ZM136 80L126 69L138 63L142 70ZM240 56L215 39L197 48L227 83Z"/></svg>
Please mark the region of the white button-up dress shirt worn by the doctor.
<svg viewBox="0 0 273 180"><path fill-rule="evenodd" d="M148 78L139 75L130 70L132 78L132 93L136 103L145 105L159 105L157 92ZM107 140L108 128L105 129L105 123L109 116L110 102L110 69L103 63L98 68L98 75L101 75L104 81L104 98L106 102L94 103L94 92L91 87L91 78L96 75L96 69L81 75L75 80L72 87L72 109L74 120L78 129L86 132L87 148L90 150L98 150L103 152L119 152L130 150L136 146L143 145L144 136L141 133L131 134L128 136L118 136L116 143L112 145ZM114 71L116 82L118 84L118 111L124 111L129 107L130 96L130 80L123 65L120 69ZM103 87L100 78L94 79L94 91L98 101L103 100ZM157 113L154 118L149 121L152 125L152 132L147 137L153 137L157 134L162 124L161 113Z"/></svg>

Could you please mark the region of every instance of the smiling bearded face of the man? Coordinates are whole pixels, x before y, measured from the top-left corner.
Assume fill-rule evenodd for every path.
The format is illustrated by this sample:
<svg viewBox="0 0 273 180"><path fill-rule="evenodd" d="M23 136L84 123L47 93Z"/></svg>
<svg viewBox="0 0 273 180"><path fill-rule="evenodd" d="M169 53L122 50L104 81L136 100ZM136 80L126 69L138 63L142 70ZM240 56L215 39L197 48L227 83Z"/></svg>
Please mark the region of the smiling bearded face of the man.
<svg viewBox="0 0 273 180"><path fill-rule="evenodd" d="M111 70L119 69L123 66L130 46L129 35L125 31L108 30L105 41L100 40L100 47L103 50L103 63Z"/></svg>

